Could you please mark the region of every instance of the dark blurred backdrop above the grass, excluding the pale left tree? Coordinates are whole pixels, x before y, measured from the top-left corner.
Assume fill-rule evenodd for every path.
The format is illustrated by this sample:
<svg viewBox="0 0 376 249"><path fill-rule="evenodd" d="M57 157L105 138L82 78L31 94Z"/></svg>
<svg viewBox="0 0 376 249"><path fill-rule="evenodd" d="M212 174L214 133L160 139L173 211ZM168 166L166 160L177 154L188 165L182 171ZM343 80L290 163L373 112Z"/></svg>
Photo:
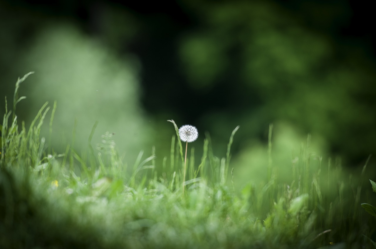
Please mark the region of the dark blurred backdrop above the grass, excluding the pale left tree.
<svg viewBox="0 0 376 249"><path fill-rule="evenodd" d="M233 151L244 156L265 145L270 123L275 134L291 131L298 142L311 133L320 153L341 156L345 165L362 165L376 152L369 1L16 0L0 3L0 21L2 99L10 99L17 77L35 70L27 52L55 23L69 24L114 58L136 58L135 105L148 130L132 145L138 150L156 144L168 155L174 131L166 120L174 119L197 126L199 141L209 132L221 155L237 125ZM28 96L32 86L21 93ZM33 118L29 108L22 105L20 117Z"/></svg>

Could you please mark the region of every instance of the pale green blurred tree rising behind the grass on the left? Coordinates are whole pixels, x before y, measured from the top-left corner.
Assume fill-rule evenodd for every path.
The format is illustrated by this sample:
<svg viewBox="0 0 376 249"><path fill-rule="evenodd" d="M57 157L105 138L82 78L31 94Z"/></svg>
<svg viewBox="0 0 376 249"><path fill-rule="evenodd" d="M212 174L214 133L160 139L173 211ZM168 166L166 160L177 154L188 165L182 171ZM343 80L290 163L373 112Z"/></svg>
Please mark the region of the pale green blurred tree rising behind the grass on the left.
<svg viewBox="0 0 376 249"><path fill-rule="evenodd" d="M139 107L137 58L120 59L67 24L53 23L43 30L18 65L37 72L23 86L33 101L20 107L35 115L45 101L57 101L52 145L63 151L66 143L60 139L70 142L75 120L75 148L80 150L86 149L90 129L99 121L94 147L102 134L114 132L119 152L133 163L150 133ZM47 136L47 127L45 131Z"/></svg>

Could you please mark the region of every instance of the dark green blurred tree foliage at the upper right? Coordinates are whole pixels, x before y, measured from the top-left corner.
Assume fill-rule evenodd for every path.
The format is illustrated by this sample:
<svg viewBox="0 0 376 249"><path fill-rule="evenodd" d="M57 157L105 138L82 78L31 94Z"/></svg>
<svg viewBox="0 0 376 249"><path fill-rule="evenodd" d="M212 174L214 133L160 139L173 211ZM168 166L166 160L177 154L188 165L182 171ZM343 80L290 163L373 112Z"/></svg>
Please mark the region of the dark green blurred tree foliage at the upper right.
<svg viewBox="0 0 376 249"><path fill-rule="evenodd" d="M202 115L215 135L237 123L254 138L265 124L287 121L353 162L376 152L375 64L366 50L305 27L272 1L189 6L202 25L181 39L182 71L193 89L225 103ZM346 10L325 9L324 18L345 18Z"/></svg>

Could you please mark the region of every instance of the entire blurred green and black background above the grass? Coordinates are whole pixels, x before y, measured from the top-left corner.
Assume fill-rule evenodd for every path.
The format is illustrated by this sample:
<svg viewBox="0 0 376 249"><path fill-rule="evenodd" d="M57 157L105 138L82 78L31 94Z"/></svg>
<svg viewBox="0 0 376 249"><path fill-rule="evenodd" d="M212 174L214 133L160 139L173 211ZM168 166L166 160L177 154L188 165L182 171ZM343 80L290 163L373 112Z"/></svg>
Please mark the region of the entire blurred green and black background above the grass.
<svg viewBox="0 0 376 249"><path fill-rule="evenodd" d="M323 160L356 167L376 154L370 2L3 0L0 30L0 115L17 78L35 71L18 118L30 123L56 100L58 152L75 122L85 150L99 121L93 145L114 132L127 162L152 145L162 162L174 119L198 128L197 160L205 133L224 156L240 125L232 162L244 179L266 175L271 123L273 163L291 165L308 133Z"/></svg>

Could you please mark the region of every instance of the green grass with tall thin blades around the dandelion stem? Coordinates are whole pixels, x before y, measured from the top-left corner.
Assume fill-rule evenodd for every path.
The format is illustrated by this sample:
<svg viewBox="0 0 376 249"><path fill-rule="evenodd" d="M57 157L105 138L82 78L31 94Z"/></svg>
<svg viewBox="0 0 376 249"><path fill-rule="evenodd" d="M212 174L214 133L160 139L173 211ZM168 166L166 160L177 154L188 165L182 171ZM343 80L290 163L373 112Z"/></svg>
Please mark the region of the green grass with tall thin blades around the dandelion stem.
<svg viewBox="0 0 376 249"><path fill-rule="evenodd" d="M230 147L236 127L229 132L223 157L211 149L209 135L195 165L194 147L187 158L183 191L183 150L177 126L171 153L156 165L141 151L134 165L123 163L112 133L97 148L77 152L74 142L65 153L50 148L42 138L42 123L50 110L42 106L26 129L13 110L3 119L0 154L0 248L369 248L375 220L361 207L366 165L359 176L343 177L340 162L314 154L310 137L294 159L293 181L281 183L278 162L271 160L269 130L268 180L240 188L232 172ZM50 117L50 134L53 114ZM51 136L51 135L50 135ZM74 138L74 132L73 132ZM73 139L74 140L74 139ZM197 144L195 145L197 146ZM160 170L162 169L162 170ZM235 169L236 170L236 169ZM368 186L368 185L367 185ZM322 191L330 189L331 191Z"/></svg>

